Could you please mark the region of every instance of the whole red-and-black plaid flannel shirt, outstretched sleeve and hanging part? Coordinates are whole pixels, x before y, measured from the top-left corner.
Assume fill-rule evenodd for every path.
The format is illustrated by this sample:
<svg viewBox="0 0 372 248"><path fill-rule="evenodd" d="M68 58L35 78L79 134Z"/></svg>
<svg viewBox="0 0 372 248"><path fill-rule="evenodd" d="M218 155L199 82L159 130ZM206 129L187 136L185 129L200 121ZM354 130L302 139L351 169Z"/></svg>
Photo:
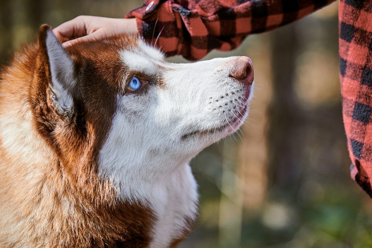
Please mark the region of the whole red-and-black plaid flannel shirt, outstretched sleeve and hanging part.
<svg viewBox="0 0 372 248"><path fill-rule="evenodd" d="M236 48L334 0L146 0L129 12L143 38L167 56L196 60ZM351 175L372 197L372 1L340 0L340 80Z"/></svg>

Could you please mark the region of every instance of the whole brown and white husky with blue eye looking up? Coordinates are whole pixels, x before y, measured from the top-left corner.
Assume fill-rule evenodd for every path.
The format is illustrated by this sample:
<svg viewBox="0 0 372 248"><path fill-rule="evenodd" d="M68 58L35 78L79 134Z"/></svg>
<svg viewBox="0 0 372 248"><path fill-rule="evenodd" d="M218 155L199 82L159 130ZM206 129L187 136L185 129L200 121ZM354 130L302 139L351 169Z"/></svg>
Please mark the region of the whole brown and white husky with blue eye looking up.
<svg viewBox="0 0 372 248"><path fill-rule="evenodd" d="M177 247L189 166L249 112L248 57L173 64L137 36L62 48L50 26L0 79L0 247Z"/></svg>

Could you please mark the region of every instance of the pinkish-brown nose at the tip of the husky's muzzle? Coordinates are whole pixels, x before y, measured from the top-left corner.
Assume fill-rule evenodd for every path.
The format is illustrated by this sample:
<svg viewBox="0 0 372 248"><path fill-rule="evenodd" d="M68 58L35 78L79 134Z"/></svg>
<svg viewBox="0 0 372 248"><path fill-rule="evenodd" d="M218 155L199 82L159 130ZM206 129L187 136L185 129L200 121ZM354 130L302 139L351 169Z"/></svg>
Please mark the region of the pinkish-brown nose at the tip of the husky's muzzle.
<svg viewBox="0 0 372 248"><path fill-rule="evenodd" d="M230 77L233 77L244 84L253 83L253 65L252 60L246 56L240 56L232 62Z"/></svg>

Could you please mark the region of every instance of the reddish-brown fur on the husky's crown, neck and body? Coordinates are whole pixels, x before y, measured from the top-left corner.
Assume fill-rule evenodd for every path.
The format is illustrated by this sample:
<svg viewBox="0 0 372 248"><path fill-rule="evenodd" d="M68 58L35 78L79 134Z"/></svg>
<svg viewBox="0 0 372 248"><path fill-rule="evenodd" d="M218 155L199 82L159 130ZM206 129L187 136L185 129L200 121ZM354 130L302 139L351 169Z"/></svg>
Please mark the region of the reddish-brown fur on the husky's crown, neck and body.
<svg viewBox="0 0 372 248"><path fill-rule="evenodd" d="M14 219L0 223L0 247L147 247L155 220L151 210L140 203L118 202L112 183L97 175L98 152L110 128L119 79L125 71L117 63L117 49L105 42L68 49L76 62L79 86L72 92L73 115L60 116L48 86L47 29L42 26L38 44L16 54L1 74L0 109L4 110L0 117L17 108L15 112L25 112L22 116L31 113L32 120L20 117L32 121L31 136L37 139L28 148L45 154L45 162L30 165L27 159L12 156L0 136L0 166L7 167L0 179L4 187L0 199L7 201L9 218L18 216L23 225L16 225ZM135 38L111 39L122 46L135 45ZM33 177L37 179L29 179L22 170L37 170ZM15 180L19 188L10 185Z"/></svg>

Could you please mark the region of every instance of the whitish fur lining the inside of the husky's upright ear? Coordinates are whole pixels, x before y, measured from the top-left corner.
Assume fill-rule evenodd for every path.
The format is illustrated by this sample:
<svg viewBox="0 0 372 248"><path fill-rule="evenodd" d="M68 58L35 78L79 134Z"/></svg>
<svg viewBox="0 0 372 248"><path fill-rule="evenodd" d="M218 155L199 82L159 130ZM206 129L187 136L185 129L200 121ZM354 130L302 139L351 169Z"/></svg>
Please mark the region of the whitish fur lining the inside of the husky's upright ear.
<svg viewBox="0 0 372 248"><path fill-rule="evenodd" d="M73 76L73 61L51 30L47 31L46 45L52 74L52 85L49 87L54 95L53 100L58 112L64 115L66 112L71 112L73 108L73 99L68 92L68 89L76 84Z"/></svg>

